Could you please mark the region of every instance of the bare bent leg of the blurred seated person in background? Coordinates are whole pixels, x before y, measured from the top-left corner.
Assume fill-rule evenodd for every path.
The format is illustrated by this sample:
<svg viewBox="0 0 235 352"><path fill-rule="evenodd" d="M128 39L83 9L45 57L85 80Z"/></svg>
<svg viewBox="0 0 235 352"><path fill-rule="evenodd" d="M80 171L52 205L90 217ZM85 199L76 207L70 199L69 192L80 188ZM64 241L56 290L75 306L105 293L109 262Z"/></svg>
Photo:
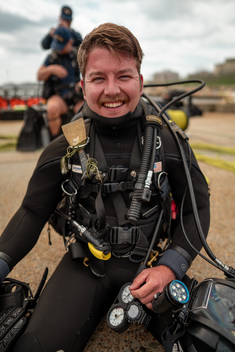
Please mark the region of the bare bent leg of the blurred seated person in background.
<svg viewBox="0 0 235 352"><path fill-rule="evenodd" d="M66 114L68 107L60 95L52 95L47 101L47 120L52 136L57 136L62 125L61 115Z"/></svg>

